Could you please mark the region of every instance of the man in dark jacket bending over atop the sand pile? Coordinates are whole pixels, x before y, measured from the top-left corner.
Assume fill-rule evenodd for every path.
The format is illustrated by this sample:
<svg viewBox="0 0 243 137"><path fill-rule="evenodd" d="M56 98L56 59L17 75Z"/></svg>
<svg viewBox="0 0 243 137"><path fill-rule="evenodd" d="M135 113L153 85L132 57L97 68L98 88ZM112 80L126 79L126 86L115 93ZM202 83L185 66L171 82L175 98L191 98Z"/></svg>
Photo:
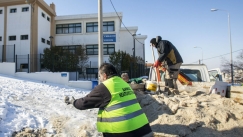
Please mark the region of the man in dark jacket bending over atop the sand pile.
<svg viewBox="0 0 243 137"><path fill-rule="evenodd" d="M179 94L176 80L183 63L180 53L176 47L168 40L162 40L161 36L152 38L150 44L157 48L159 57L154 63L158 67L163 62L165 67L165 85L169 87L169 94Z"/></svg>

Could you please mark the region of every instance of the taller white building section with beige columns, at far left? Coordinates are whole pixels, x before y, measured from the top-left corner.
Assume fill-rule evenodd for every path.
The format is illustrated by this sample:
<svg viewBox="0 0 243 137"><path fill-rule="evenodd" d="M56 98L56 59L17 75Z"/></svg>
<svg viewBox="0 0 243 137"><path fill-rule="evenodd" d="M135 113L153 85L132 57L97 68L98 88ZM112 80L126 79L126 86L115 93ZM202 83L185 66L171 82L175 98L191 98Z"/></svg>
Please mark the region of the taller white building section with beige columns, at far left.
<svg viewBox="0 0 243 137"><path fill-rule="evenodd" d="M18 61L16 68L28 63L31 72L37 71L37 56L50 47L47 40L55 34L55 16L55 5L49 6L43 0L1 0L2 62L16 62L16 55L28 55L29 60Z"/></svg>

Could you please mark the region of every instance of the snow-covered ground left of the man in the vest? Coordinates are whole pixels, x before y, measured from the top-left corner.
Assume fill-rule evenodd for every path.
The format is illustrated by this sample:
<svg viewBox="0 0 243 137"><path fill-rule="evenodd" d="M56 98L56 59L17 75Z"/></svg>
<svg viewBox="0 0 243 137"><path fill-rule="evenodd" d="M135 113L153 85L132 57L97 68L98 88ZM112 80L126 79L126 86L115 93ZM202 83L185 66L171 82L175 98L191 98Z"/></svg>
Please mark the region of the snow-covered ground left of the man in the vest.
<svg viewBox="0 0 243 137"><path fill-rule="evenodd" d="M64 103L65 96L80 98L90 91L2 74L0 83L0 137L9 137L24 127L46 128L48 137L57 134L53 127L62 130L63 136L87 131L98 137L98 109L81 111Z"/></svg>

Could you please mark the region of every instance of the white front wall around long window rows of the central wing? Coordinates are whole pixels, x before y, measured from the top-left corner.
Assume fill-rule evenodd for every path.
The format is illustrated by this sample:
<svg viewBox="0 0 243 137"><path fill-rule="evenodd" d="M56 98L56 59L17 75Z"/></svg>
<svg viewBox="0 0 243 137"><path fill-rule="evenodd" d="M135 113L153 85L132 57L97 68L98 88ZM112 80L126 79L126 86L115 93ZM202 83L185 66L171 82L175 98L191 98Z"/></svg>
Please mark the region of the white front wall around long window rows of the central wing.
<svg viewBox="0 0 243 137"><path fill-rule="evenodd" d="M71 23L81 23L82 25L82 33L72 33L72 34L56 34L55 43L56 46L67 46L67 45L92 45L98 44L98 32L89 32L86 33L86 23L89 22L98 22L98 18L93 18L94 15L85 15L86 18L81 18L77 16L82 15L74 15L74 16L60 16L57 17L56 24L71 24ZM91 18L88 18L91 17ZM62 19L63 18L63 19ZM69 18L69 19L66 19ZM118 17L107 17L103 18L103 21L114 21L115 23L115 31L113 32L104 32L104 34L116 34L116 42L103 42L103 44L115 44L115 50L118 51L120 48L119 44L119 30L120 30L120 20ZM103 56L104 62L108 62L109 55ZM98 67L98 55L89 55L89 65L91 68Z"/></svg>

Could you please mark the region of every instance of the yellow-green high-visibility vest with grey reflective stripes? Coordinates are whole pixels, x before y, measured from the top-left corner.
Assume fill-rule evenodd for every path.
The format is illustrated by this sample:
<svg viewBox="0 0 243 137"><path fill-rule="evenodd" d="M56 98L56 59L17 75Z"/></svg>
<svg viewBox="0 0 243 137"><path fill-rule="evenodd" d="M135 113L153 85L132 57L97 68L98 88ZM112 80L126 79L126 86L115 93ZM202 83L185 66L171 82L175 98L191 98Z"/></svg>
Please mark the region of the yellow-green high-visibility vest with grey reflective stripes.
<svg viewBox="0 0 243 137"><path fill-rule="evenodd" d="M132 88L120 77L112 77L103 84L111 93L110 103L99 109L97 129L103 133L124 133L148 124L148 119Z"/></svg>

